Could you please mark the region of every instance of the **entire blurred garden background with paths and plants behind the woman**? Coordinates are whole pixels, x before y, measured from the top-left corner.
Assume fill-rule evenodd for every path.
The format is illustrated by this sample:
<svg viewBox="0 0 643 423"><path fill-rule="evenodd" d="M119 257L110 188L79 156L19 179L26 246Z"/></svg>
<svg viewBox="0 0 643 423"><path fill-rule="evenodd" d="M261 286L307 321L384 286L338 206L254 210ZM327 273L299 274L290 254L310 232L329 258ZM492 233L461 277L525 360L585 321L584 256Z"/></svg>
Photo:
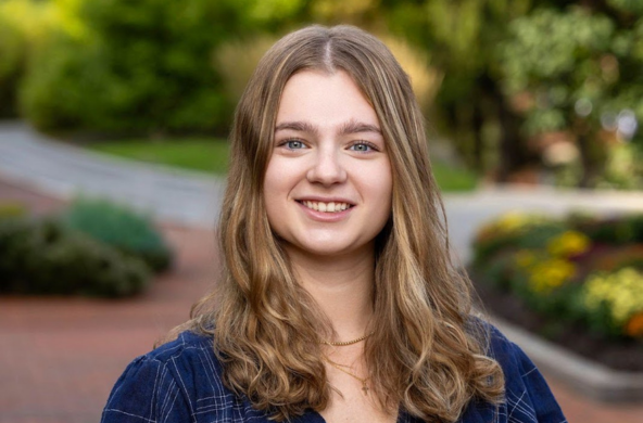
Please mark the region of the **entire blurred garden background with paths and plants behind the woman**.
<svg viewBox="0 0 643 423"><path fill-rule="evenodd" d="M411 76L456 253L522 302L484 294L490 311L626 345L607 362L626 354L639 394L554 379L569 421L640 422L640 0L0 0L0 422L97 421L127 362L188 318L216 278L235 105L267 48L313 23L377 35ZM490 222L514 209L549 219ZM589 290L597 275L616 282Z"/></svg>

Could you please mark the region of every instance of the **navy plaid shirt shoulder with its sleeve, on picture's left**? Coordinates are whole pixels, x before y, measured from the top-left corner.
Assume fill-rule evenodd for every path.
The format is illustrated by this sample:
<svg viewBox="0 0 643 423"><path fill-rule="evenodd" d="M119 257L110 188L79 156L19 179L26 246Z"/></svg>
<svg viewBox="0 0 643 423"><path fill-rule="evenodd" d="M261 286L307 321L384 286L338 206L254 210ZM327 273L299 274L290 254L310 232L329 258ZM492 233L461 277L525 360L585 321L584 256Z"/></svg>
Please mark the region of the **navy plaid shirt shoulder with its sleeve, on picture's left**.
<svg viewBox="0 0 643 423"><path fill-rule="evenodd" d="M127 366L102 422L184 422L197 416L240 421L245 407L225 388L222 372L213 337L184 332Z"/></svg>

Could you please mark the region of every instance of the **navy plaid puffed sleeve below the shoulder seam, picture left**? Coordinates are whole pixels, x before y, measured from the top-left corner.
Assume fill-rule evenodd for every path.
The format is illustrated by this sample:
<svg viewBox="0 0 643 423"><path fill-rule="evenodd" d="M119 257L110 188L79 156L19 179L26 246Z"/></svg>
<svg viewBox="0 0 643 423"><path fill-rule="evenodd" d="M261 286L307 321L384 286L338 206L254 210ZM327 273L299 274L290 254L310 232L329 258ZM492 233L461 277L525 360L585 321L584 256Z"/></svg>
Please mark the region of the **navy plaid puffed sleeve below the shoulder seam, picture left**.
<svg viewBox="0 0 643 423"><path fill-rule="evenodd" d="M101 423L191 422L192 413L167 366L142 356L123 372Z"/></svg>

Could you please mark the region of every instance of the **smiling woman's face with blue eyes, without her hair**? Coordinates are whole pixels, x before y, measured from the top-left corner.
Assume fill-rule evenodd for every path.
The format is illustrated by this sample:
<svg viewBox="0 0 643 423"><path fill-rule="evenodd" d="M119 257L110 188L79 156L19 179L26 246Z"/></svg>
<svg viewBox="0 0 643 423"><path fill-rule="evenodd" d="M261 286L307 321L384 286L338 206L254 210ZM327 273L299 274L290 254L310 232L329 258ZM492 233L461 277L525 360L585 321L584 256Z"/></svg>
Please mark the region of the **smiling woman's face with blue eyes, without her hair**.
<svg viewBox="0 0 643 423"><path fill-rule="evenodd" d="M351 77L293 75L264 181L268 221L285 248L318 256L373 251L391 214L392 187L379 120Z"/></svg>

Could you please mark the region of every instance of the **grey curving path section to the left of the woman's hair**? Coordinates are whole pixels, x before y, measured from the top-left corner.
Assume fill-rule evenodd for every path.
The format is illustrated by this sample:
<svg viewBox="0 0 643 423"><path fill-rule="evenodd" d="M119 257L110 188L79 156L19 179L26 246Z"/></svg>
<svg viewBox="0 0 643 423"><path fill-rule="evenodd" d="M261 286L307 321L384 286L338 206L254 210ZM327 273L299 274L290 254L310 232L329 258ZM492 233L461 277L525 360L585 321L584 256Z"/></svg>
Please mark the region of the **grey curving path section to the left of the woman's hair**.
<svg viewBox="0 0 643 423"><path fill-rule="evenodd" d="M197 227L213 226L224 190L206 175L62 144L22 123L0 124L0 176L59 198L102 196Z"/></svg>

